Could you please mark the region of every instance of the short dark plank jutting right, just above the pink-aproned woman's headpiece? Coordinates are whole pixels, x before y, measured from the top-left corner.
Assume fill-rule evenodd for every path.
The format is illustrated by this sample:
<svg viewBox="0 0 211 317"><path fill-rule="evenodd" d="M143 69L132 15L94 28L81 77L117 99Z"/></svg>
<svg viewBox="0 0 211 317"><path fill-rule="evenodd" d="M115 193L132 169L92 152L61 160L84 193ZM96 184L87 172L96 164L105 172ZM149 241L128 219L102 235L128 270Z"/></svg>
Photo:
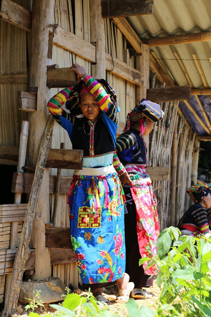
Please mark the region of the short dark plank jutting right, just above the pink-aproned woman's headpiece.
<svg viewBox="0 0 211 317"><path fill-rule="evenodd" d="M190 100L191 87L190 86L171 86L171 87L150 88L146 90L146 99L151 100L153 102Z"/></svg>

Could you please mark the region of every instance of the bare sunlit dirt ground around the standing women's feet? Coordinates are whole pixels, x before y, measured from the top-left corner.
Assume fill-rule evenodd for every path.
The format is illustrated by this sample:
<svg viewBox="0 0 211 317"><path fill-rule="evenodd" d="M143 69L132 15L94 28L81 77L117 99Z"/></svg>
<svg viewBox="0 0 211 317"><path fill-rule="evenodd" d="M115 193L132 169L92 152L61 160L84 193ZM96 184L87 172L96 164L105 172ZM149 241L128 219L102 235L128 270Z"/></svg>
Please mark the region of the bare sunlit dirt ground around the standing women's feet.
<svg viewBox="0 0 211 317"><path fill-rule="evenodd" d="M127 308L126 308L126 304L121 304L121 303L115 303L114 300L118 294L118 288L117 286L113 286L113 287L107 287L107 288L103 288L103 295L108 298L111 301L111 305L107 306L108 310L119 317L127 317L128 312L127 312ZM157 284L156 284L156 280L153 281L153 286L150 288L146 288L144 289L147 292L151 293L153 296L151 298L146 298L146 299L136 299L136 303L139 306L154 306L156 300L158 299L159 295L160 295L160 288L158 288ZM79 289L77 289L75 291L76 293L80 292ZM86 290L82 290L80 292L80 295L87 295L88 292ZM55 303L54 303L55 304ZM58 303L56 303L58 304ZM12 315L11 317L27 317L28 314L32 311L30 309L28 309L27 311L25 311L25 306L26 305L18 305L17 307L17 313ZM101 308L101 307L100 307ZM102 308L104 308L102 306ZM154 310L155 308L150 307L152 310ZM1 315L1 310L3 311L3 306L0 307L0 315ZM46 312L45 312L46 311ZM45 309L44 307L38 307L34 309L34 312L38 313L41 316L45 316L45 314L51 314L51 313L55 313L56 310L53 307L50 307L48 304L45 304Z"/></svg>

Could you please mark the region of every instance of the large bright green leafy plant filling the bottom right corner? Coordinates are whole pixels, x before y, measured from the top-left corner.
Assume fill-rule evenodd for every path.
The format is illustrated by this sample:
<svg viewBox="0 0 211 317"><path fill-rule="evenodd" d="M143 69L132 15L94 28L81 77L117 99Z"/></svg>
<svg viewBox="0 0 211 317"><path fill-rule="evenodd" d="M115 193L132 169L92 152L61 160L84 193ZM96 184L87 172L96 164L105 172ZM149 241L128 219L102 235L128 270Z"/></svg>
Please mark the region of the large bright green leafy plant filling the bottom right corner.
<svg viewBox="0 0 211 317"><path fill-rule="evenodd" d="M157 285L164 285L159 299L179 314L211 317L211 237L181 236L178 228L170 227L159 235L157 249L157 256L142 258L139 264L157 265ZM169 314L175 316L175 311Z"/></svg>

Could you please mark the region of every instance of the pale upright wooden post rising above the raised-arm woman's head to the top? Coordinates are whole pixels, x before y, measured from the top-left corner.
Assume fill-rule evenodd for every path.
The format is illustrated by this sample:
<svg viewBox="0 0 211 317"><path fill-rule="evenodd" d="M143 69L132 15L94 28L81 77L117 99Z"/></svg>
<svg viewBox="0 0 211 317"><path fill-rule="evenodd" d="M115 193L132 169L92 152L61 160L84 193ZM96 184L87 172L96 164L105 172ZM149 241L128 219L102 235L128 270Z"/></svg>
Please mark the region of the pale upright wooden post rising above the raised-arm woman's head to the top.
<svg viewBox="0 0 211 317"><path fill-rule="evenodd" d="M94 78L106 79L105 29L101 10L101 0L90 1L91 42L96 43L96 64L91 69Z"/></svg>

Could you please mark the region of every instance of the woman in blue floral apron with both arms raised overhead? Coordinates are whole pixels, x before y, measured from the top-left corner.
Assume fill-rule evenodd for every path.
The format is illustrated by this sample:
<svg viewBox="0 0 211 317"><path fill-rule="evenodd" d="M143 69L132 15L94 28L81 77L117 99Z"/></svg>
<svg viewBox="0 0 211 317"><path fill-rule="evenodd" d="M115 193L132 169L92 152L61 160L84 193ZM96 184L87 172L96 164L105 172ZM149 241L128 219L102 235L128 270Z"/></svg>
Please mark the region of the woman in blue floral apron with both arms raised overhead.
<svg viewBox="0 0 211 317"><path fill-rule="evenodd" d="M112 165L120 108L105 81L107 87L77 63L69 71L78 74L79 85L60 91L47 106L67 130L72 148L84 151L83 170L74 172L68 194L71 242L82 282L89 284L96 299L109 304L101 287L116 281L116 301L125 303L134 285L125 274L124 207ZM62 108L64 103L70 113ZM83 117L74 115L79 113Z"/></svg>

